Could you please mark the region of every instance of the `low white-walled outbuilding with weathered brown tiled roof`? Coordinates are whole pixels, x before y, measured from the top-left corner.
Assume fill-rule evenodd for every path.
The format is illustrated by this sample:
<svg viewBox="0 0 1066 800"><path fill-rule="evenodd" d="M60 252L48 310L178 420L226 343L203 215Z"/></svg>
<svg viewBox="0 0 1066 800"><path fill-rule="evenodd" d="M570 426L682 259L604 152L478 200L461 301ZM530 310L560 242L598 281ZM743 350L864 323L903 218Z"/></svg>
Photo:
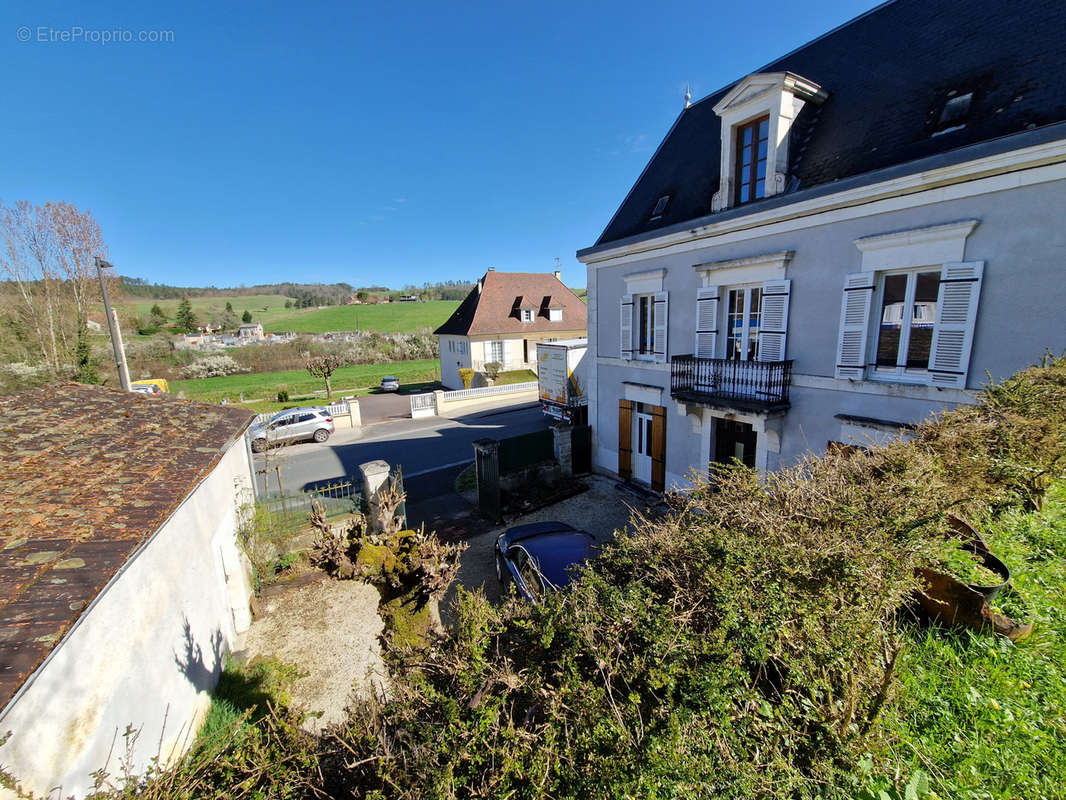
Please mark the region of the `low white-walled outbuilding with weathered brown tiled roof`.
<svg viewBox="0 0 1066 800"><path fill-rule="evenodd" d="M67 383L0 416L0 763L80 798L184 752L251 623L252 414Z"/></svg>

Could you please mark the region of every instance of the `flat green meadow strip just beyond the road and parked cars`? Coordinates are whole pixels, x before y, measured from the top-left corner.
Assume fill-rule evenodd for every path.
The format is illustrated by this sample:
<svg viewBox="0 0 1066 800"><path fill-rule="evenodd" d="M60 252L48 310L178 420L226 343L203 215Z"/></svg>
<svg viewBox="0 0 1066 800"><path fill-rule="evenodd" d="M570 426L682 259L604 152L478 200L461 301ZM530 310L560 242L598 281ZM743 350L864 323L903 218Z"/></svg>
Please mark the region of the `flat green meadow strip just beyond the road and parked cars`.
<svg viewBox="0 0 1066 800"><path fill-rule="evenodd" d="M401 384L434 381L438 377L438 371L439 363L435 358L341 367L333 375L334 396L353 393L366 394L367 390L381 384L382 379L386 375L395 375L400 379ZM263 401L255 403L256 411L270 411L271 409L265 407L265 405L276 403L276 395L280 388L285 388L289 393L290 400L294 401L297 396L311 396L312 393L324 387L325 385L320 379L311 378L306 370L301 369L171 381L172 394L181 391L190 400L208 403L217 403L223 398L226 398L230 403L238 403L241 401L243 393L246 402ZM318 396L316 402L323 401L324 395ZM264 407L260 409L260 405ZM252 407L251 404L249 407Z"/></svg>

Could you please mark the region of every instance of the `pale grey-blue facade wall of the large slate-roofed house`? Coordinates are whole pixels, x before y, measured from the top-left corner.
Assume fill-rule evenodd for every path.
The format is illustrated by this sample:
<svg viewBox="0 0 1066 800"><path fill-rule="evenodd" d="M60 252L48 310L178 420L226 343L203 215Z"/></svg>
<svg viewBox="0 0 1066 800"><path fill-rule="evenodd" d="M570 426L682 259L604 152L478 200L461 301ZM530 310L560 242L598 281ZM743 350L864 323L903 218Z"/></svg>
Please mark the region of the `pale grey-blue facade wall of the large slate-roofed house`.
<svg viewBox="0 0 1066 800"><path fill-rule="evenodd" d="M1001 181L1000 188L975 196L946 202L942 193L924 192L916 207L822 225L805 223L791 231L752 236L742 241L709 243L683 253L628 258L614 265L589 265L589 351L596 374L591 387L594 460L601 469L617 469L618 400L623 383L660 386L669 397L667 365L624 362L619 358L620 297L625 277L665 269L663 289L669 293L668 356L693 353L696 325L695 294L702 277L695 265L747 258L779 251L794 253L785 277L791 279L786 357L794 361L791 409L779 418L760 420L770 434L760 467L795 463L804 453L824 451L829 439L840 441L838 414L916 422L933 412L968 402L986 381L986 372L1002 379L1037 361L1048 350L1066 349L1066 307L1063 254L1066 228L1057 210L1066 204L1066 180L1029 186ZM861 270L862 255L855 240L862 237L978 220L965 245L966 260L984 261L984 279L967 373L966 388L939 389L872 380L834 378L845 276ZM778 226L778 229L781 226ZM713 242L713 240L709 240ZM933 265L931 265L933 266ZM876 314L876 311L874 311ZM689 466L701 464L713 435L705 412L671 403L667 425L667 485ZM713 452L711 447L710 452Z"/></svg>

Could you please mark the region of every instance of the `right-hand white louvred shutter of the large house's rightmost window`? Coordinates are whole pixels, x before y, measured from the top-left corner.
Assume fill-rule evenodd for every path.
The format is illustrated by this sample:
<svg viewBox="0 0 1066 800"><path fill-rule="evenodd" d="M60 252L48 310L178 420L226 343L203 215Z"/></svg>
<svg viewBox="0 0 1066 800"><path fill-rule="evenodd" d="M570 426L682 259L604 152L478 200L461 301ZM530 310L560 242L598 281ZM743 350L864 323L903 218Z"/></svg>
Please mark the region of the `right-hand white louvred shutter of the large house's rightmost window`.
<svg viewBox="0 0 1066 800"><path fill-rule="evenodd" d="M930 382L934 386L966 388L984 271L984 261L956 261L940 269L936 327L930 354Z"/></svg>

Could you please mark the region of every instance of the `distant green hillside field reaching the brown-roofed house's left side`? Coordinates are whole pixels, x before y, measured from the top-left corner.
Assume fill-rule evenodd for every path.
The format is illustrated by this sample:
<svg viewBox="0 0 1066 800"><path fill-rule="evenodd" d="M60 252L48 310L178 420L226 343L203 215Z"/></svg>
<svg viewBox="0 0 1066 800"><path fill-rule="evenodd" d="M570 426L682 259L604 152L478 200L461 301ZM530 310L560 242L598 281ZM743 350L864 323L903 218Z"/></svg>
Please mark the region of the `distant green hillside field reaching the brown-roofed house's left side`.
<svg viewBox="0 0 1066 800"><path fill-rule="evenodd" d="M427 303L381 303L378 305L340 305L328 308L301 308L262 320L268 333L325 333L326 331L376 331L409 333L419 327L434 329L458 307L453 300ZM236 305L233 306L237 307ZM285 310L285 309L282 309ZM253 315L255 311L253 311Z"/></svg>

